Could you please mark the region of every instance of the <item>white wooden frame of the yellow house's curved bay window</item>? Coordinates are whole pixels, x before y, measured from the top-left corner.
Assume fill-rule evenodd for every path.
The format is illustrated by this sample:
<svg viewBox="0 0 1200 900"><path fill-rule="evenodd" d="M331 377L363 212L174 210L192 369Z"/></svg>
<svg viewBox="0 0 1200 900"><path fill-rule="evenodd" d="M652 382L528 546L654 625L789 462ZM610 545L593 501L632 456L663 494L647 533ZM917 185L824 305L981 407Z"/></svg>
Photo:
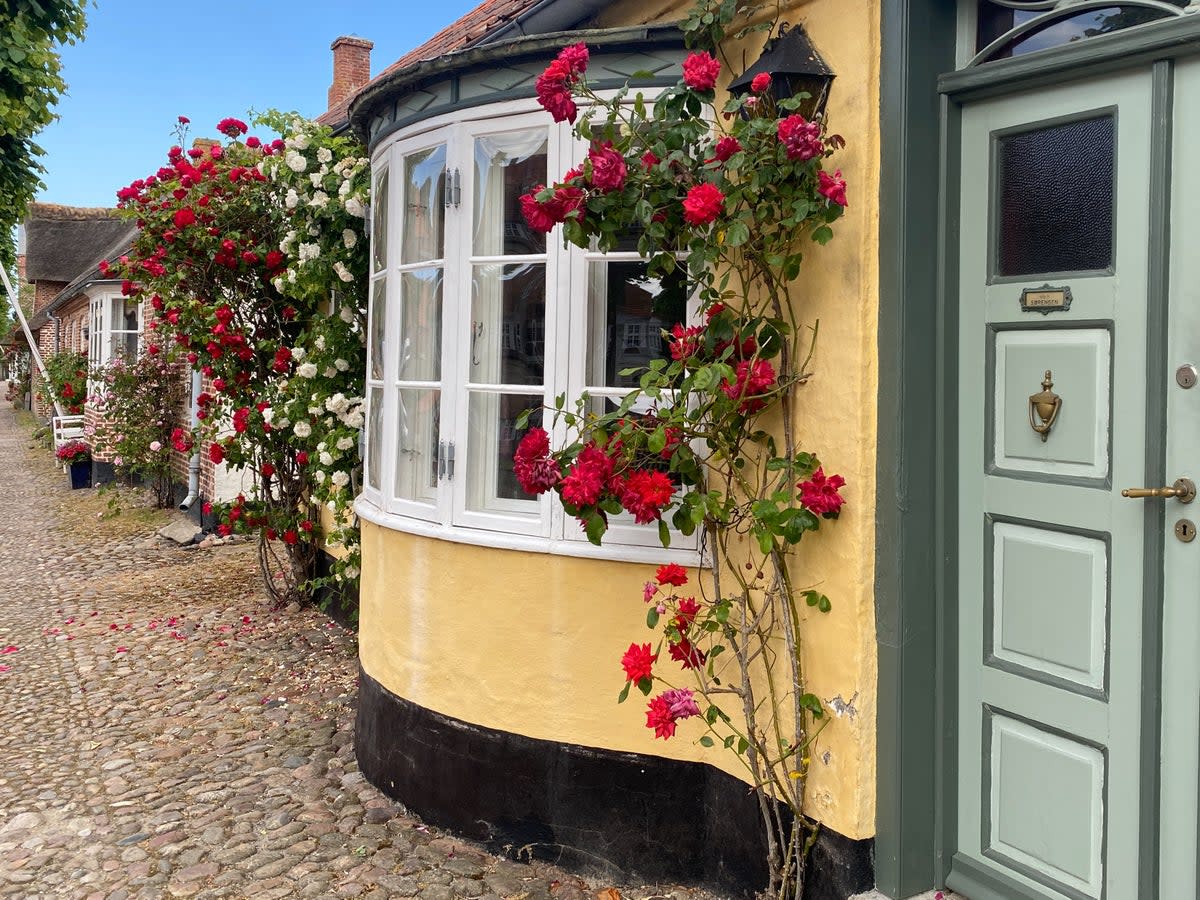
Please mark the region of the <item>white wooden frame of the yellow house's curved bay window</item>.
<svg viewBox="0 0 1200 900"><path fill-rule="evenodd" d="M542 386L530 386L529 394L542 394L542 404L547 408L545 427L551 432L551 440L560 445L566 439L566 428L559 424L552 427L554 397L566 394L568 402L580 396L586 386L586 360L588 358L588 304L587 272L588 264L599 259L619 262L640 259L636 253L599 254L584 253L577 247L564 248L560 228L554 228L546 235L546 253L504 257L473 257L469 246L473 236L472 185L474 172L475 138L490 133L523 131L527 128L545 128L547 134L546 181L565 172L577 163L587 152L587 145L577 142L565 124L553 124L550 116L534 101L509 101L475 110L470 118L463 113L449 114L414 126L402 132L385 145L377 149L372 158L373 184L378 184L380 174L389 173L386 197L376 197L373 203L386 205L386 265L384 271L374 266L374 232L372 232L372 282L386 281L386 314L384 317L383 380L371 378L370 361L367 371L367 396L372 388L382 389L383 415L382 434L378 439L367 442L368 448L376 444L379 452L380 484L371 485L365 479L359 498L358 512L365 520L395 530L426 534L443 540L452 540L485 546L533 550L547 553L584 556L598 558L618 558L637 562L680 562L696 564L698 562L698 534L684 536L672 530L672 544L664 548L659 540L658 528L636 526L630 516L611 517L610 529L602 546L587 541L578 522L568 516L562 504L553 502L553 494L542 494L536 499L521 499L511 503L493 498L488 509L470 509L468 503L469 472L469 398L473 392L486 394L505 391L514 394L520 385L487 385L470 382L470 362L474 331L472 276L474 268L481 264L545 264L546 266L546 310L542 326L535 329L541 334L523 334L524 340L538 340L544 348ZM442 358L440 380L427 386L437 386L440 394L440 432L439 438L445 445L454 442L455 476L450 480L438 480L433 503L418 503L395 496L396 460L398 443L398 396L397 388L400 347L400 302L401 276L406 270L420 268L415 264L404 265L400 259L401 235L404 214L403 182L404 158L424 149L445 145L446 168L461 173L461 194L456 209L448 210L443 221L445 245L440 260L426 260L427 265L439 264L443 272L442 293ZM452 221L451 217L456 217ZM372 301L373 301L372 293ZM558 301L556 301L556 298ZM564 301L570 298L570 302ZM694 312L689 304L689 312ZM374 328L376 317L368 317ZM646 329L647 332L649 329ZM494 335L503 340L502 335ZM646 340L653 336L644 335ZM368 331L368 347L373 346ZM410 386L409 383L404 384ZM604 391L610 396L624 396L625 389ZM371 420L368 409L367 421ZM377 440L377 443L376 443ZM367 455L370 457L370 449ZM370 458L366 464L370 467ZM490 470L490 467L485 467ZM511 509L510 509L511 508ZM524 512L528 510L528 512ZM628 521L625 521L628 520Z"/></svg>

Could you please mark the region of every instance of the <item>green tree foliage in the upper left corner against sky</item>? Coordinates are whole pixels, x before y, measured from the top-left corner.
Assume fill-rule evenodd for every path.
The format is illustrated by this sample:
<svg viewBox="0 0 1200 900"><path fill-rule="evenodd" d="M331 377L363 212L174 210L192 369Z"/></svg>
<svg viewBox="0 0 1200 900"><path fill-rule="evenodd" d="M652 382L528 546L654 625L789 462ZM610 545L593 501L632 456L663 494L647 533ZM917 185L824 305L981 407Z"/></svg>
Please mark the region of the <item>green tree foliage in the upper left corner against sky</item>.
<svg viewBox="0 0 1200 900"><path fill-rule="evenodd" d="M44 187L34 136L54 120L66 90L58 48L83 37L85 0L8 0L0 5L0 265L13 260L8 236Z"/></svg>

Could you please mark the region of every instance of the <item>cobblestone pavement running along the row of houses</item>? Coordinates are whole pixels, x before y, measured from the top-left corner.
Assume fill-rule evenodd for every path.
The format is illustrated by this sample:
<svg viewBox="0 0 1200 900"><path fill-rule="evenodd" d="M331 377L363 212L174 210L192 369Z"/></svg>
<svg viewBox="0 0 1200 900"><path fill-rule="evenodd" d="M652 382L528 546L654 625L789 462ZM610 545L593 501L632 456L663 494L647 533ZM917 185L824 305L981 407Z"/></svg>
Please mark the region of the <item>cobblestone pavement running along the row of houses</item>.
<svg viewBox="0 0 1200 900"><path fill-rule="evenodd" d="M67 490L0 410L0 898L695 898L428 828L354 762L353 635L272 613L246 544Z"/></svg>

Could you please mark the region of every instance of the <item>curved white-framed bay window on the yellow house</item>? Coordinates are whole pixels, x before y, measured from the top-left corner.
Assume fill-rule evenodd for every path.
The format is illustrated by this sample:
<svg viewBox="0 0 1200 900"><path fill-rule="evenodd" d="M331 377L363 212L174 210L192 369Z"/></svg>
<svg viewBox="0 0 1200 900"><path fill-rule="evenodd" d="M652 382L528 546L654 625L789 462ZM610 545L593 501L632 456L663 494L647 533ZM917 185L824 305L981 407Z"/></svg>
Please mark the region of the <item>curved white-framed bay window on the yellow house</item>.
<svg viewBox="0 0 1200 900"><path fill-rule="evenodd" d="M455 540L589 553L577 522L517 484L516 421L559 394L619 403L636 384L623 370L668 356L661 334L686 318L685 286L648 278L636 241L584 253L557 229L530 229L521 196L584 150L541 110L480 115L401 136L373 161L362 512ZM542 421L535 412L527 427ZM694 552L677 538L676 552ZM660 546L624 515L605 542Z"/></svg>

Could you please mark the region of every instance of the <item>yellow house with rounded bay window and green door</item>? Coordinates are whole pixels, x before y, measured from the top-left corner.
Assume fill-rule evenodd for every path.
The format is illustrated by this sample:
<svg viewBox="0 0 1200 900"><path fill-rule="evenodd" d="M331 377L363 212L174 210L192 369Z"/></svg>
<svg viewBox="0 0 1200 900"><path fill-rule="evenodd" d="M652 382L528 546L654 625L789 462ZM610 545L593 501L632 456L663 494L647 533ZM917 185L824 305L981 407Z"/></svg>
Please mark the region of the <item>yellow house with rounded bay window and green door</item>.
<svg viewBox="0 0 1200 900"><path fill-rule="evenodd" d="M593 548L505 469L517 410L619 396L614 366L586 361L647 352L658 328L636 259L523 233L514 198L581 152L534 80L582 40L595 84L672 82L686 7L485 2L349 103L376 185L356 740L376 784L496 846L745 888L757 822L730 761L614 704L648 565L695 550L618 529ZM1176 479L1200 473L1200 16L781 7L836 73L851 186L803 277L821 347L798 412L850 485L800 557L835 598L805 647L839 710L811 773L812 895L1196 896L1200 545ZM728 49L749 66L761 37ZM442 247L469 245L485 151L520 162L493 173L479 253L536 260L463 312L473 262ZM588 271L604 317L580 312Z"/></svg>

